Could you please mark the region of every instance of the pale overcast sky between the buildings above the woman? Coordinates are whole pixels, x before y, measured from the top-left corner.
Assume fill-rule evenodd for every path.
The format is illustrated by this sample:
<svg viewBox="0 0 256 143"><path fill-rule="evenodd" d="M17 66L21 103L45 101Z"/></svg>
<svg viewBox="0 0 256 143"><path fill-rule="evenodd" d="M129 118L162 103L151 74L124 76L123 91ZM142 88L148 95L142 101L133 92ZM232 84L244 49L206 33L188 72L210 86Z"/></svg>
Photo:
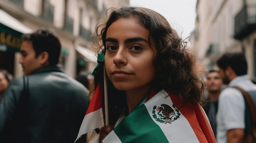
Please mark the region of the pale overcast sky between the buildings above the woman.
<svg viewBox="0 0 256 143"><path fill-rule="evenodd" d="M182 39L190 35L195 27L197 0L130 0L131 6L146 7L162 14Z"/></svg>

